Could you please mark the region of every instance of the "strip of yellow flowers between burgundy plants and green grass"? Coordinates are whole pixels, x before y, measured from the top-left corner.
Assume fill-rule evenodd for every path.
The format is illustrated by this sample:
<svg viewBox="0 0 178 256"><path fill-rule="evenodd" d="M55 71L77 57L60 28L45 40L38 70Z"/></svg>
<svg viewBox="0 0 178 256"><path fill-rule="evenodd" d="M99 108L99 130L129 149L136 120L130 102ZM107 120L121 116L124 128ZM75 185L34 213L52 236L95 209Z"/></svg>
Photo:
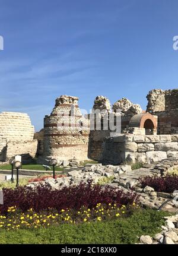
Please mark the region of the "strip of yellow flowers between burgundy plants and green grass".
<svg viewBox="0 0 178 256"><path fill-rule="evenodd" d="M20 229L20 228L37 228L48 227L50 225L59 225L62 223L81 223L107 219L117 219L123 215L131 213L136 208L133 203L132 207L127 208L125 205L118 207L116 204L98 203L94 208L81 207L80 210L62 209L58 212L55 209L48 211L35 212L33 208L23 213L16 206L8 207L8 214L0 215L0 228Z"/></svg>

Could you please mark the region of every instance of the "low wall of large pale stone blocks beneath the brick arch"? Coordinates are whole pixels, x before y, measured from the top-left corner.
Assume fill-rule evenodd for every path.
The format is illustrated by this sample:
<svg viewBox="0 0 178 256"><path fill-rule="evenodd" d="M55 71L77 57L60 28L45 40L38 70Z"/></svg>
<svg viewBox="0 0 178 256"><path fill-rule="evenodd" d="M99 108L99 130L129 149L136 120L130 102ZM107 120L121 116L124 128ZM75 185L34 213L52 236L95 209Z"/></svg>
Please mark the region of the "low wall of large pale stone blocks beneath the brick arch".
<svg viewBox="0 0 178 256"><path fill-rule="evenodd" d="M178 157L178 135L120 134L105 140L103 162L117 165L124 161L157 162Z"/></svg>

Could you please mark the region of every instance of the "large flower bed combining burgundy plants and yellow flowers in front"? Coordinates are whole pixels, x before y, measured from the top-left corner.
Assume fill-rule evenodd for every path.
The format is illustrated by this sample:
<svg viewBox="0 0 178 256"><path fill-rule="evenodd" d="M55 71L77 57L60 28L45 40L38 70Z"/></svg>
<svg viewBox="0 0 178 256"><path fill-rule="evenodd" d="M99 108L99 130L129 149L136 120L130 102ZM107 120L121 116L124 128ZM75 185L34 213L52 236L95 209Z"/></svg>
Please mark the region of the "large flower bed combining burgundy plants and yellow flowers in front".
<svg viewBox="0 0 178 256"><path fill-rule="evenodd" d="M134 192L81 183L76 187L52 190L39 185L36 189L18 187L3 189L0 227L47 227L63 222L101 221L129 214L138 201Z"/></svg>

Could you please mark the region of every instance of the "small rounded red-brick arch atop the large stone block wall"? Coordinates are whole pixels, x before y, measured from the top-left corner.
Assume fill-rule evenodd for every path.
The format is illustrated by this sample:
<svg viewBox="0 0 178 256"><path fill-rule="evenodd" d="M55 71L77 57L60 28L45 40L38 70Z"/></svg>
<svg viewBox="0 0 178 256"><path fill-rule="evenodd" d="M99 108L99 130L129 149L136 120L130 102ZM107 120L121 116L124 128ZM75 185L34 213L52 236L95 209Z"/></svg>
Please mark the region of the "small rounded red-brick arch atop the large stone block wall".
<svg viewBox="0 0 178 256"><path fill-rule="evenodd" d="M150 113L142 113L132 116L129 127L147 128L147 125L149 129L151 124L153 129L157 129L157 118Z"/></svg>

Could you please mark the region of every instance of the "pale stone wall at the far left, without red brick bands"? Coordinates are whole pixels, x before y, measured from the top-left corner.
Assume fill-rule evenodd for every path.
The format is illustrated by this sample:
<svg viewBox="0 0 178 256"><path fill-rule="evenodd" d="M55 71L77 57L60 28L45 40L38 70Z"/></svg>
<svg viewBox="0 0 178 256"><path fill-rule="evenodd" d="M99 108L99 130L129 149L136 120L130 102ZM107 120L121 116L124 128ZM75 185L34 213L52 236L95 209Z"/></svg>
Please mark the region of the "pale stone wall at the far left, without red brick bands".
<svg viewBox="0 0 178 256"><path fill-rule="evenodd" d="M0 161L21 154L27 161L36 156L37 140L33 140L34 127L26 113L0 113Z"/></svg>

